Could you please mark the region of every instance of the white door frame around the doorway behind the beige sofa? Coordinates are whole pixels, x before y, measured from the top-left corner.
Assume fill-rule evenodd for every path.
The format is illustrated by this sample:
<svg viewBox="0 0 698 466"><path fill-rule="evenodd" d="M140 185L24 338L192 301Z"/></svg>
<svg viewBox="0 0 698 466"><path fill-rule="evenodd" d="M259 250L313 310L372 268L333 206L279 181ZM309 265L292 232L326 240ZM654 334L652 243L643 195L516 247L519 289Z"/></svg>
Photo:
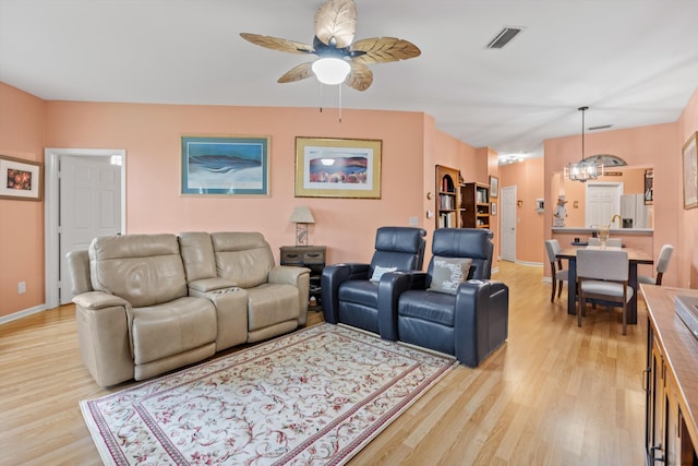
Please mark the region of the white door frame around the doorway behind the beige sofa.
<svg viewBox="0 0 698 466"><path fill-rule="evenodd" d="M59 176L60 158L76 157L121 157L121 232L127 230L127 151L123 148L45 148L45 195L44 199L44 264L46 308L59 306L59 268L60 258L58 236L59 228Z"/></svg>

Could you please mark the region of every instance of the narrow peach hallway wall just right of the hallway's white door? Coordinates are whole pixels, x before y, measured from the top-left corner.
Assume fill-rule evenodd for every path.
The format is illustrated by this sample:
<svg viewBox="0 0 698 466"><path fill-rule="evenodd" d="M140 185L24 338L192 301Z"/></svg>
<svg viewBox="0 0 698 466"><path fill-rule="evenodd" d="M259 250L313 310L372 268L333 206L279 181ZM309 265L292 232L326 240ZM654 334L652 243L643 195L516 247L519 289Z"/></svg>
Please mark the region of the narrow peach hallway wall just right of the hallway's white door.
<svg viewBox="0 0 698 466"><path fill-rule="evenodd" d="M516 186L517 206L516 260L547 263L543 248L543 217L535 212L535 200L544 196L543 158L530 158L500 167L500 187Z"/></svg>

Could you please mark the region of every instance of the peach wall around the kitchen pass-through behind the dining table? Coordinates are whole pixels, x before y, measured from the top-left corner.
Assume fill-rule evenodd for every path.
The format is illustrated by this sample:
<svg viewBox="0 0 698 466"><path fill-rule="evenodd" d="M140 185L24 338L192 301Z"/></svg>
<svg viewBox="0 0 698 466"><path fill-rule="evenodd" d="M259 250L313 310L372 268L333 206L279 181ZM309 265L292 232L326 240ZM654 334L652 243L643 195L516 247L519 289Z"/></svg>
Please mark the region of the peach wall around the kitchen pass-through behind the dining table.
<svg viewBox="0 0 698 466"><path fill-rule="evenodd" d="M662 244L677 244L676 225L679 222L681 164L677 143L677 124L664 123L627 130L604 131L585 135L587 154L613 154L625 159L629 166L654 168L654 235L652 249L648 251L657 258ZM551 237L554 202L558 192L554 190L574 189L577 181L562 180L559 186L553 175L570 162L580 158L581 138L579 135L557 138L544 142L545 154L545 238ZM554 187L554 190L552 189ZM550 272L547 272L550 273ZM679 280L678 261L672 261L665 275L666 285L677 285Z"/></svg>

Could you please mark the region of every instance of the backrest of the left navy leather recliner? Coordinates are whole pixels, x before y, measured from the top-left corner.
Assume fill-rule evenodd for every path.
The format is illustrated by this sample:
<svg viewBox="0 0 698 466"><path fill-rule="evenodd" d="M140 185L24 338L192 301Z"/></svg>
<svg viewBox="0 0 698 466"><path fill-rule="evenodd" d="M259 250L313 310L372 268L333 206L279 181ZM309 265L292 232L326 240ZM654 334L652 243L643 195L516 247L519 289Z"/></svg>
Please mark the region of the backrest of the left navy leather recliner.
<svg viewBox="0 0 698 466"><path fill-rule="evenodd" d="M398 271L421 271L424 265L426 230L417 227L381 227L375 234L375 252L371 259L369 276L373 268L396 267Z"/></svg>

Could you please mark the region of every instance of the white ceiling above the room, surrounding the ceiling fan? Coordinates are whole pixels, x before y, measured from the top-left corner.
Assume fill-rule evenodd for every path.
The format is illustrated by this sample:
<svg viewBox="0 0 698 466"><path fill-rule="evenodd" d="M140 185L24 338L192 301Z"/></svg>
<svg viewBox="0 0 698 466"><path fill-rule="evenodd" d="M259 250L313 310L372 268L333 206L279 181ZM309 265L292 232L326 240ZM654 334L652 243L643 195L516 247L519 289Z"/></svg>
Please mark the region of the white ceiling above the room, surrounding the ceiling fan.
<svg viewBox="0 0 698 466"><path fill-rule="evenodd" d="M277 84L308 59L243 40L312 44L322 0L0 0L0 81L48 100L337 107L315 79ZM586 127L674 122L698 87L695 0L357 0L357 39L422 50L372 64L344 108L423 111L500 154L540 156ZM502 50L504 27L525 31ZM2 103L0 103L2 105Z"/></svg>

